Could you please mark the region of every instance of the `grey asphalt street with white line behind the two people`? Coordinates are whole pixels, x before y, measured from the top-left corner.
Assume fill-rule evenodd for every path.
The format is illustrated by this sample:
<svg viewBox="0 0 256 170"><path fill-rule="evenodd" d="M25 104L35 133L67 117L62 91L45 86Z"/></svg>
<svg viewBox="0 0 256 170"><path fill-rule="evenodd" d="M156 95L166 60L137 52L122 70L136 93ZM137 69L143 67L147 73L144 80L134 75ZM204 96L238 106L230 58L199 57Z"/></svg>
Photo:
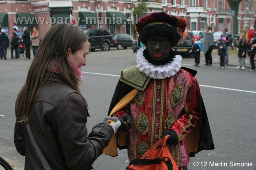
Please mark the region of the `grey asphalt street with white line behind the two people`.
<svg viewBox="0 0 256 170"><path fill-rule="evenodd" d="M33 53L31 53L33 54ZM32 55L31 55L32 56ZM26 81L31 60L10 59L0 61L0 157L14 165L14 170L24 169L25 158L20 156L13 143L15 112L14 105L19 90ZM33 57L31 57L33 58ZM89 104L90 117L87 128L100 123L107 115L108 107L118 81L119 72L136 65L136 56L131 49L95 51L86 56L83 66L83 96ZM193 58L183 58L182 66L197 70L197 81L210 121L215 150L201 151L190 159L189 170L254 170L256 166L255 108L256 72L250 72L249 58L246 69L237 70L237 56L230 55L230 65L217 69L219 57L213 55L212 66L204 66L201 53L200 67L193 67ZM217 59L217 60L215 60ZM94 163L95 170L125 170L129 162L127 150L118 150L118 157L101 155ZM193 165L200 162L199 166ZM202 163L203 162L203 163ZM227 163L226 167L210 166L210 162ZM240 166L230 166L230 162ZM251 167L241 163L252 163ZM231 164L233 165L233 164ZM1 170L1 167L0 167Z"/></svg>

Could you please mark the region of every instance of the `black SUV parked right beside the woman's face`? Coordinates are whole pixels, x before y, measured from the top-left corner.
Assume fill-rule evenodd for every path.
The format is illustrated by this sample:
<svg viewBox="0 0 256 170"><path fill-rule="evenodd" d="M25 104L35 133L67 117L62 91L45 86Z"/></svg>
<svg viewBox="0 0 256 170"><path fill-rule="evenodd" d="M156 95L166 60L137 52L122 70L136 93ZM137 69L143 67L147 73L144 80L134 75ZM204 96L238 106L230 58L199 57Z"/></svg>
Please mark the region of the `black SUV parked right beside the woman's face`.
<svg viewBox="0 0 256 170"><path fill-rule="evenodd" d="M89 36L89 43L91 43L91 51L101 49L108 51L114 45L113 35L108 30L104 29L89 29L84 31Z"/></svg>

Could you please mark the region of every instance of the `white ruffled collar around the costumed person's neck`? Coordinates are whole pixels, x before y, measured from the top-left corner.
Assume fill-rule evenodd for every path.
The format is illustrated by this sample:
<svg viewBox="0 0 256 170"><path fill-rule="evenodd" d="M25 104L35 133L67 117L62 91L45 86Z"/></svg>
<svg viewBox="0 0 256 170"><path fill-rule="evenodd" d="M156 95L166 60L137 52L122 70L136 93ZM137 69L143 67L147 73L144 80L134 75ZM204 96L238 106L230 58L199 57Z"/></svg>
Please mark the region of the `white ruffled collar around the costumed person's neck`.
<svg viewBox="0 0 256 170"><path fill-rule="evenodd" d="M137 68L140 72L145 73L148 77L154 79L164 79L167 77L174 76L181 68L182 57L180 55L175 55L173 61L166 63L165 65L153 65L148 62L143 56L143 51L146 48L142 47L137 53Z"/></svg>

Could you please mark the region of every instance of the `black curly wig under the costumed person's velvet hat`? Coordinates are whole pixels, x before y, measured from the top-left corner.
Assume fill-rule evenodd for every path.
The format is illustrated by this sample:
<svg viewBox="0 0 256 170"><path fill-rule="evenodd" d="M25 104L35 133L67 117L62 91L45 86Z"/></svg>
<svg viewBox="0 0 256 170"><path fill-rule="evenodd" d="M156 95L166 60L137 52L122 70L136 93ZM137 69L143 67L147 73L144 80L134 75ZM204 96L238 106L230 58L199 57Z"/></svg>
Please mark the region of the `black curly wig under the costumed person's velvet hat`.
<svg viewBox="0 0 256 170"><path fill-rule="evenodd" d="M170 40L172 47L176 46L181 39L180 34L177 32L176 27L169 27L165 24L155 24L144 27L143 31L139 34L140 40L147 46L147 40L150 37L164 36Z"/></svg>

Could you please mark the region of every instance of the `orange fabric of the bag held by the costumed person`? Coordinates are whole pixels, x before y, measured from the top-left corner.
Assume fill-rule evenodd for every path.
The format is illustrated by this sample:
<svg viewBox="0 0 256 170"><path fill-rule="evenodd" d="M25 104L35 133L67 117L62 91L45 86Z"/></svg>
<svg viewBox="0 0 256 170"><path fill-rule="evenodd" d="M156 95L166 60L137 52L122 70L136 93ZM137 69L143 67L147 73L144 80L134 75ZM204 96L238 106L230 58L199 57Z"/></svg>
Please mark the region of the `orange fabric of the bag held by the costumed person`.
<svg viewBox="0 0 256 170"><path fill-rule="evenodd" d="M164 157L170 158L172 162L172 169L178 170L176 163L174 162L172 155L170 154L169 145L166 143L169 135L165 136L165 138L160 139L157 143L154 144L140 159L156 159L159 157L163 159ZM161 144L161 147L159 145ZM165 158L165 161L168 159ZM127 170L167 170L166 163L161 161L161 163L151 164L151 165L129 165Z"/></svg>

